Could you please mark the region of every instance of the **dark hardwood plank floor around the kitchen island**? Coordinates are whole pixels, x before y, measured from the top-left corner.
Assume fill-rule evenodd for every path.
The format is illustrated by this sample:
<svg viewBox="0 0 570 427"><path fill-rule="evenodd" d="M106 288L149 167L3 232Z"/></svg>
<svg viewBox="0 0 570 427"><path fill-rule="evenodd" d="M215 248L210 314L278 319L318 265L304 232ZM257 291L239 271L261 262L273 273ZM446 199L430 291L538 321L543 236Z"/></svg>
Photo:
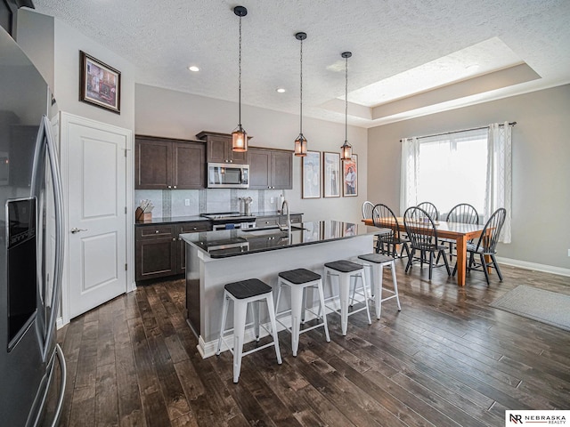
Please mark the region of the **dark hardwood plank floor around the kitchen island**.
<svg viewBox="0 0 570 427"><path fill-rule="evenodd" d="M458 287L396 264L401 312L385 302L371 326L358 313L345 337L330 315L331 342L302 334L297 358L282 331L283 364L249 355L238 384L228 351L200 358L183 280L140 286L59 331L61 425L500 426L505 409L568 409L570 332L489 303L518 285L570 294L570 278L502 266L502 283L474 271Z"/></svg>

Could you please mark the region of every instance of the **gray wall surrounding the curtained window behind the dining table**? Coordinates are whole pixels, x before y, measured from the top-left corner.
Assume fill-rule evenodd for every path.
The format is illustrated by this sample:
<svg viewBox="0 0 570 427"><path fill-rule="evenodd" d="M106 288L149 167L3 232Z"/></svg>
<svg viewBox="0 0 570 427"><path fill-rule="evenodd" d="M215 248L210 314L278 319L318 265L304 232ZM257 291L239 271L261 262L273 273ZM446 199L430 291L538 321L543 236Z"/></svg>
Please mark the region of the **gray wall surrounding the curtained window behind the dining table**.
<svg viewBox="0 0 570 427"><path fill-rule="evenodd" d="M368 197L399 210L400 139L516 121L512 133L512 243L500 245L499 255L568 269L568 117L570 85L563 85L371 128L368 131ZM445 183L441 185L444 189Z"/></svg>

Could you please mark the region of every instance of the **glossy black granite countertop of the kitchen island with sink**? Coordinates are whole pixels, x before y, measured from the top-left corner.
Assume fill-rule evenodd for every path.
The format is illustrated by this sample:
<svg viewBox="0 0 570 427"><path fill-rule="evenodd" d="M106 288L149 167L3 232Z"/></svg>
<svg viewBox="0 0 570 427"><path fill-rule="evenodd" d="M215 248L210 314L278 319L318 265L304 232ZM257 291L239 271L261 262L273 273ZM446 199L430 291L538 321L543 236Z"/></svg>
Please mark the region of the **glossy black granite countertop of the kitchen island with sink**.
<svg viewBox="0 0 570 427"><path fill-rule="evenodd" d="M180 237L211 258L226 258L368 234L372 233L363 224L319 221L297 223L291 227L290 233L279 228L265 228L188 233L181 234Z"/></svg>

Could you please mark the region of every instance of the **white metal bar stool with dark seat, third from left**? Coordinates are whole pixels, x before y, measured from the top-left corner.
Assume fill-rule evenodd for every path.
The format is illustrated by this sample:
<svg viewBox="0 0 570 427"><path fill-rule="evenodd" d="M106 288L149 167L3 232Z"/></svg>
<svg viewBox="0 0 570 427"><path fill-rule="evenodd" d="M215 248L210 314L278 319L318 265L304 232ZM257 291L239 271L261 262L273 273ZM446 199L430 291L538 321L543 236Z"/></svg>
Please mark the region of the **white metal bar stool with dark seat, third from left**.
<svg viewBox="0 0 570 427"><path fill-rule="evenodd" d="M331 278L338 278L338 293L340 297L340 326L342 329L342 334L346 335L346 329L348 327L348 316L358 313L359 311L366 310L368 316L368 324L371 325L371 311L368 308L368 287L366 286L366 279L364 278L364 267L356 262L350 262L347 260L339 260L335 262L327 262L324 264L324 274L327 279L327 283L332 285ZM358 310L353 310L348 312L348 294L350 294L350 282L354 278L354 286L356 286L356 281L358 278L362 282L362 292L364 295L364 307ZM333 310L333 309L331 309ZM338 313L337 310L333 310Z"/></svg>

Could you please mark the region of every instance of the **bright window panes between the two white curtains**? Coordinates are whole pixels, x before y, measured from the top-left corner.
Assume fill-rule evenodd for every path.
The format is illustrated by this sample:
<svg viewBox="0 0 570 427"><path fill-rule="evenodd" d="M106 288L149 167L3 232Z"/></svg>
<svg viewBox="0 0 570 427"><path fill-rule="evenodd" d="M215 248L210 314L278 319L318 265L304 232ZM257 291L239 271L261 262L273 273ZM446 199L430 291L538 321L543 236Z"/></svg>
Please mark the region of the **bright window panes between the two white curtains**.
<svg viewBox="0 0 570 427"><path fill-rule="evenodd" d="M419 138L418 202L430 201L444 217L468 203L483 214L487 129Z"/></svg>

